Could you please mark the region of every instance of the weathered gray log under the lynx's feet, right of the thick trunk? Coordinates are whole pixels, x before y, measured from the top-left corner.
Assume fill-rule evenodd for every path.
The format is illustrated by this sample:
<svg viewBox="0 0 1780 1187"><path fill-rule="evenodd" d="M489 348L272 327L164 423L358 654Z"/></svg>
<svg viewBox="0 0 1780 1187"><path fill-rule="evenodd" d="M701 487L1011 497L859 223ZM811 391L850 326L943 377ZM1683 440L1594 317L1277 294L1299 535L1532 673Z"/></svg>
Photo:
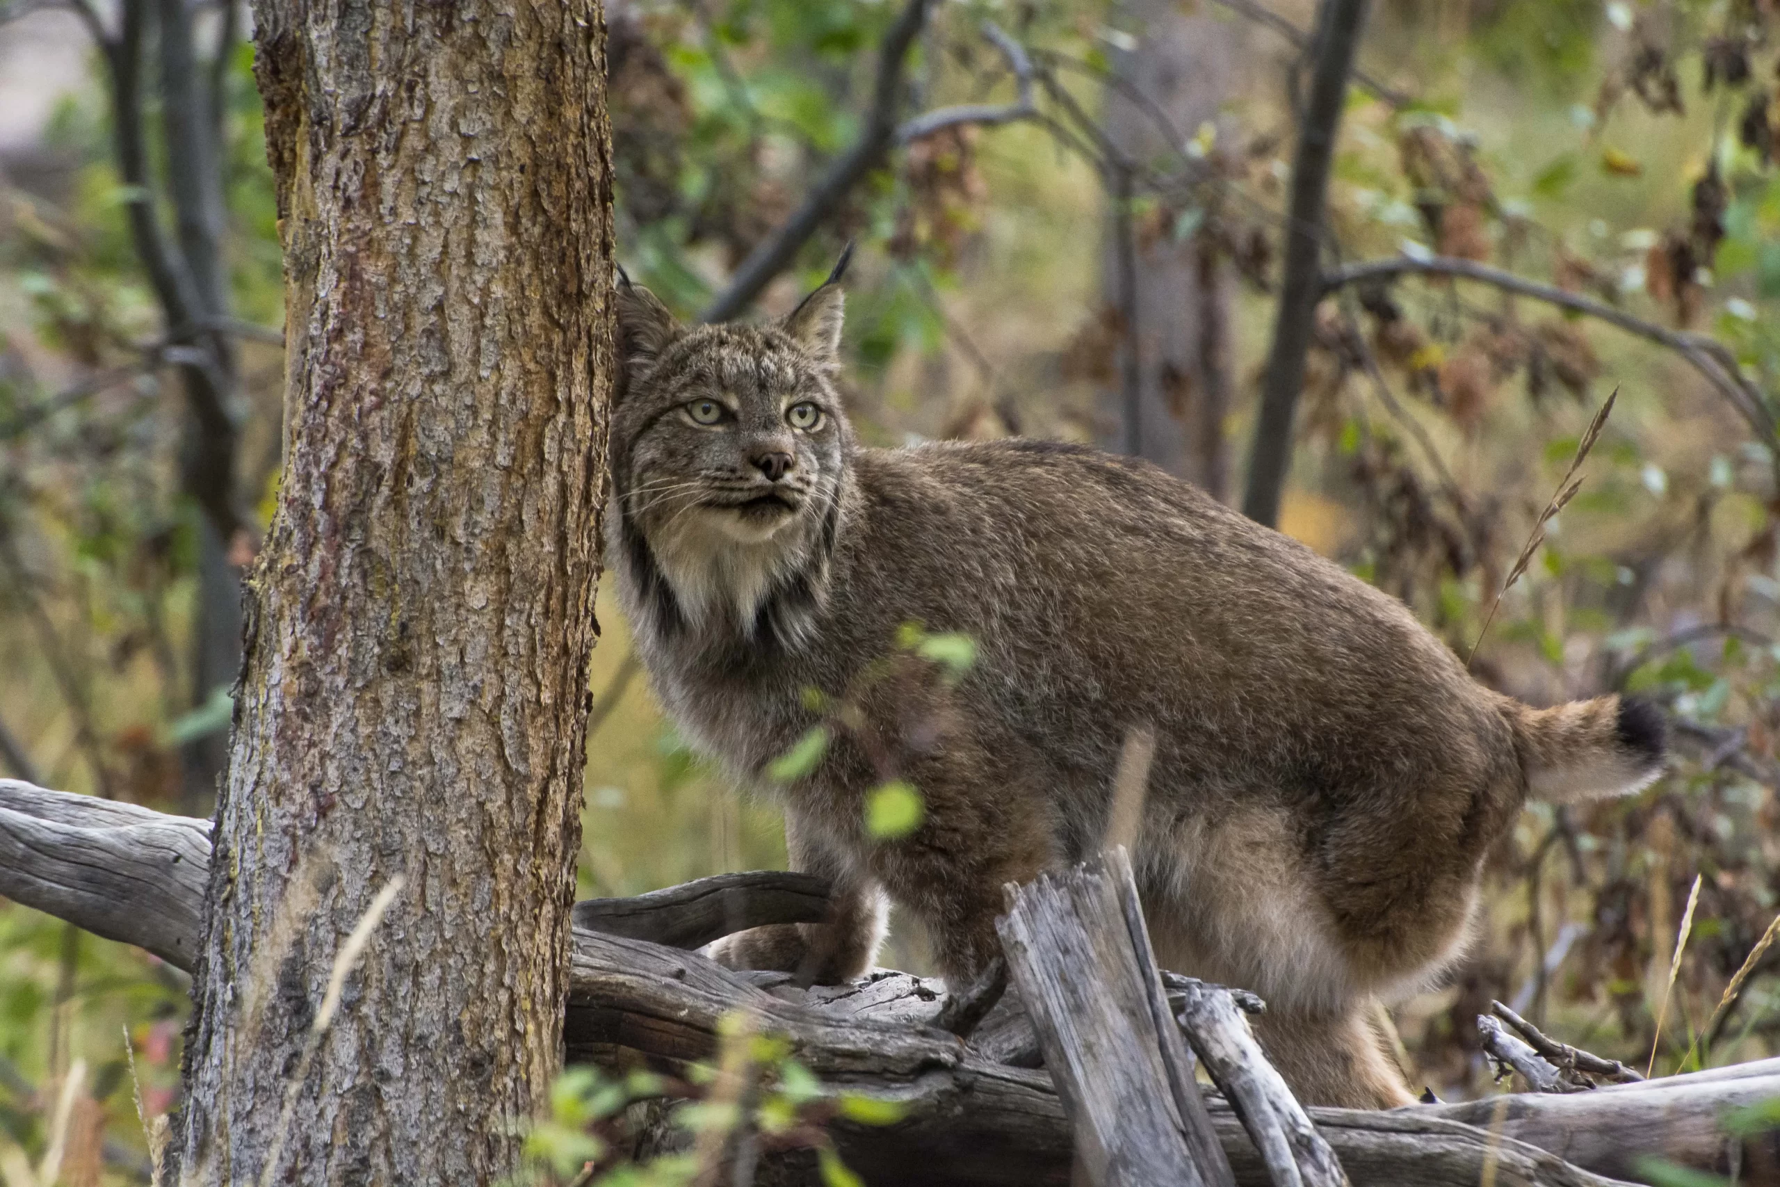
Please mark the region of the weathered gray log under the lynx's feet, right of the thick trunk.
<svg viewBox="0 0 1780 1187"><path fill-rule="evenodd" d="M878 977L874 984L895 979ZM938 998L931 982L904 984L926 998L897 1013L934 1018ZM842 1159L874 1187L1070 1183L1070 1125L1045 1071L983 1059L934 1027L885 1025L874 1011L835 1016L792 1000L794 993L789 986L758 989L696 952L577 931L568 1057L607 1066L627 1059L708 1061L717 1050L719 1020L748 1009L764 1030L790 1039L796 1057L829 1087L902 1107L901 1119L888 1126L846 1119L829 1125ZM1310 1114L1362 1187L1477 1187L1483 1167L1492 1164L1497 1187L1618 1182L1517 1141L1506 1125L1492 1135L1435 1116L1438 1109L1312 1109ZM1235 1114L1214 1098L1210 1118L1237 1185L1267 1187L1267 1167Z"/></svg>

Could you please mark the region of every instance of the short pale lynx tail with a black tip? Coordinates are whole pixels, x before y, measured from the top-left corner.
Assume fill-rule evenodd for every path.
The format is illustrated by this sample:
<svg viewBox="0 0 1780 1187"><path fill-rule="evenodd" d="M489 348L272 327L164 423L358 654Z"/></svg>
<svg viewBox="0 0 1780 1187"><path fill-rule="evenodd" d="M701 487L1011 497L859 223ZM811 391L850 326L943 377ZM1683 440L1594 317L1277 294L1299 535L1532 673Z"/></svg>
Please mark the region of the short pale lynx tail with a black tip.
<svg viewBox="0 0 1780 1187"><path fill-rule="evenodd" d="M1666 723L1650 701L1597 696L1554 708L1511 701L1506 712L1533 799L1630 795L1663 774Z"/></svg>

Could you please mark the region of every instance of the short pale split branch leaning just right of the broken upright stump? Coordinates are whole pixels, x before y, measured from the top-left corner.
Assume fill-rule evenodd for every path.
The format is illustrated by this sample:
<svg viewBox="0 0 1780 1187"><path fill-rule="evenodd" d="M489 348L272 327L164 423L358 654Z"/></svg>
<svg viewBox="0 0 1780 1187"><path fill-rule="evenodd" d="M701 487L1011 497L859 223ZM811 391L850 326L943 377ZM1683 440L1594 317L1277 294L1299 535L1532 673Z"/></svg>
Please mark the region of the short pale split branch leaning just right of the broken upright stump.
<svg viewBox="0 0 1780 1187"><path fill-rule="evenodd" d="M1171 986L1182 998L1180 1029L1255 1141L1274 1187L1346 1187L1335 1151L1260 1052L1230 991L1187 977Z"/></svg>

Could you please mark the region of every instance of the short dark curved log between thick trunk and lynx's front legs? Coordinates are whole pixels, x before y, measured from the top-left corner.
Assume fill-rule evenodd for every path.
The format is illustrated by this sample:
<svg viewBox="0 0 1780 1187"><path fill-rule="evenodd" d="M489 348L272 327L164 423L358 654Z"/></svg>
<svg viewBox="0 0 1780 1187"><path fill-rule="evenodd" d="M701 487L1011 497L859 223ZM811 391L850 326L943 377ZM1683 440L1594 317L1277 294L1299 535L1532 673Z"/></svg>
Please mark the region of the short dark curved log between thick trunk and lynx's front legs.
<svg viewBox="0 0 1780 1187"><path fill-rule="evenodd" d="M651 890L634 899L584 899L575 927L698 949L748 927L819 924L828 915L828 881L813 874L717 874Z"/></svg>

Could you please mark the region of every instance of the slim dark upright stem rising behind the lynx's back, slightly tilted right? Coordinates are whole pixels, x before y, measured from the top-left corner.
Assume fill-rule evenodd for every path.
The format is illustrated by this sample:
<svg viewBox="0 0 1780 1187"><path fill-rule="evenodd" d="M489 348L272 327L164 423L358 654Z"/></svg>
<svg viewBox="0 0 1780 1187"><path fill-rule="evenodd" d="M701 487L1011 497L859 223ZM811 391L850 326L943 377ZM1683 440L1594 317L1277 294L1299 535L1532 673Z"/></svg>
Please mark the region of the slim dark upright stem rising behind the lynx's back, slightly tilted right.
<svg viewBox="0 0 1780 1187"><path fill-rule="evenodd" d="M1292 160L1292 201L1285 237L1285 272L1273 324L1273 349L1262 383L1260 413L1250 445L1242 514L1273 527L1292 457L1292 416L1305 386L1305 359L1315 324L1321 281L1323 221L1335 133L1347 94L1347 75L1365 25L1365 0L1323 0L1317 11L1317 61L1310 101Z"/></svg>

